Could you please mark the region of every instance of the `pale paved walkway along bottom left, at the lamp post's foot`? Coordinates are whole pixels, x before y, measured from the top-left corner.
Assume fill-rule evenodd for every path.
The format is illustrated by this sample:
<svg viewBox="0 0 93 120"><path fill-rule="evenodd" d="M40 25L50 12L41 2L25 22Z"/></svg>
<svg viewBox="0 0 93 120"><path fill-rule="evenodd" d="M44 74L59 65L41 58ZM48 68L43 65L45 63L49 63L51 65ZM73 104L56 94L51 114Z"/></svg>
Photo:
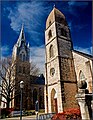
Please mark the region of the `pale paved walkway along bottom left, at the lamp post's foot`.
<svg viewBox="0 0 93 120"><path fill-rule="evenodd" d="M1 119L1 120L20 120L20 117L5 118L5 119ZM23 116L22 120L36 120L36 115Z"/></svg>

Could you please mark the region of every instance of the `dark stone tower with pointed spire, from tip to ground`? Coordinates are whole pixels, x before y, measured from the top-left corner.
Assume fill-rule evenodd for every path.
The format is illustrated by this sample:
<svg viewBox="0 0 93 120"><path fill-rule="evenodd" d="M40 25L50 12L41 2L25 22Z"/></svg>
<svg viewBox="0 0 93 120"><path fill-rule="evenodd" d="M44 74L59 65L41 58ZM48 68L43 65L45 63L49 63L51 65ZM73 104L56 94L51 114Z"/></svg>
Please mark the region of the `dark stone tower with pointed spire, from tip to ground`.
<svg viewBox="0 0 93 120"><path fill-rule="evenodd" d="M30 47L27 45L24 28L22 26L17 43L13 47L12 63L15 64L15 91L14 91L14 108L20 109L20 81L24 81L23 89L23 108L29 109L28 103L28 84L30 80L30 62L29 62Z"/></svg>

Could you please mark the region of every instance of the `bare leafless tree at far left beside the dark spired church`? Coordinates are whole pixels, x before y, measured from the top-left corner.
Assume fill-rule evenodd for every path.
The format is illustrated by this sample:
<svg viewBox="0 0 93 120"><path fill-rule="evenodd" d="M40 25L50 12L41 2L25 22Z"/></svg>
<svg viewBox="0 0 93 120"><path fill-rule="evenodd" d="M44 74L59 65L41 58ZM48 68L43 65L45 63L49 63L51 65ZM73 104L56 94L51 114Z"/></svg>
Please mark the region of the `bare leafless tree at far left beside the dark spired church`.
<svg viewBox="0 0 93 120"><path fill-rule="evenodd" d="M7 58L1 62L1 84L0 84L0 99L6 103L6 108L10 107L10 102L14 99L13 91L15 88L15 64L11 63L11 59ZM2 99L4 98L4 99Z"/></svg>

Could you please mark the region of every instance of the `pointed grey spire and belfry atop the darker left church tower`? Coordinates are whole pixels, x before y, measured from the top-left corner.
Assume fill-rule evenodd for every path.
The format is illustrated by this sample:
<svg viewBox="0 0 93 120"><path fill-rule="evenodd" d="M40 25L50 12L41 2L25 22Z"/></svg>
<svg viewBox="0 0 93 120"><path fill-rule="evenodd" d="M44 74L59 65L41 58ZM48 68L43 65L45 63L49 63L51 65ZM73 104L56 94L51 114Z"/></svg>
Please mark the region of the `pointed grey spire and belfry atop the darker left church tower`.
<svg viewBox="0 0 93 120"><path fill-rule="evenodd" d="M20 59L20 61L28 61L29 62L29 44L26 44L24 28L22 25L21 32L18 38L17 43L14 45L12 60L15 61Z"/></svg>

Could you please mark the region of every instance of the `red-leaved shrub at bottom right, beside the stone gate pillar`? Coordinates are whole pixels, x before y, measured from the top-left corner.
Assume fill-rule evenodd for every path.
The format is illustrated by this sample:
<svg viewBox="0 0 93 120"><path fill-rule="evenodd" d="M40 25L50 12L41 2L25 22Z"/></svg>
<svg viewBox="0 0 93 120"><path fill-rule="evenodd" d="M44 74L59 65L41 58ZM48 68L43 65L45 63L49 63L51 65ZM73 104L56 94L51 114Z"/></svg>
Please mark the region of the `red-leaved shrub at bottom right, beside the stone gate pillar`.
<svg viewBox="0 0 93 120"><path fill-rule="evenodd" d="M71 108L62 113L57 113L52 117L52 120L81 120L79 109Z"/></svg>

